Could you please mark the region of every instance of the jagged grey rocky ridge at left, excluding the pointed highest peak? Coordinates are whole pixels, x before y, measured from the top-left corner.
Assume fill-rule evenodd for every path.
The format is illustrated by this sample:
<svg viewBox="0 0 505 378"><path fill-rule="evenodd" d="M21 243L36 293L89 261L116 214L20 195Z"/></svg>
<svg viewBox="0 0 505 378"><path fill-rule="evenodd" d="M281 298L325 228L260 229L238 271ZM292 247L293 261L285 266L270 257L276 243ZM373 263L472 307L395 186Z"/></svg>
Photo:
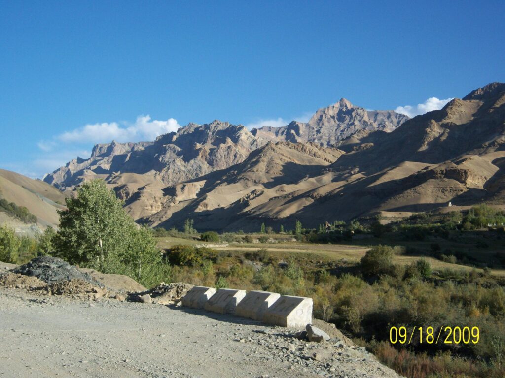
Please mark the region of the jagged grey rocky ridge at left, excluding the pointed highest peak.
<svg viewBox="0 0 505 378"><path fill-rule="evenodd" d="M173 184L243 161L265 142L241 125L215 120L190 123L155 142L99 144L87 160L77 158L44 178L62 190L83 180L144 175L146 182Z"/></svg>

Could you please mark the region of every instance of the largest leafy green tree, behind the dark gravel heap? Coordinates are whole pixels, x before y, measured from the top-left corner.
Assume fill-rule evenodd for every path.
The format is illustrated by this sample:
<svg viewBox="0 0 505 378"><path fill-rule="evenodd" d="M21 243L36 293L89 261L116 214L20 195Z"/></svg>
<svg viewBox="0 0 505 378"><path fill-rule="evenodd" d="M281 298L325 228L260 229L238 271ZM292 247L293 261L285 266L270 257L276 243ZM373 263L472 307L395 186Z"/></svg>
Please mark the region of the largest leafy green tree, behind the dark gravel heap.
<svg viewBox="0 0 505 378"><path fill-rule="evenodd" d="M55 256L70 264L99 271L118 269L135 232L133 219L103 180L92 180L66 199L59 211L60 229L54 238Z"/></svg>

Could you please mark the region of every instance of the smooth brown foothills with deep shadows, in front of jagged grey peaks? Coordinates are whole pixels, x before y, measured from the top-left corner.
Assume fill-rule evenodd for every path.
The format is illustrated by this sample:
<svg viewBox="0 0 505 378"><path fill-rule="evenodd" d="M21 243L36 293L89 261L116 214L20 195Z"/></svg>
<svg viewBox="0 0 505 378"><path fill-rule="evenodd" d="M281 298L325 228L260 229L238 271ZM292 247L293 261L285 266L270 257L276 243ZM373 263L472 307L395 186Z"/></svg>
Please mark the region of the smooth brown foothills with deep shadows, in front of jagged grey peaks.
<svg viewBox="0 0 505 378"><path fill-rule="evenodd" d="M171 190L170 204L144 221L172 227L192 217L201 230L254 231L262 223L292 228L297 219L317 227L377 213L401 216L449 202L453 209L503 204L505 84L465 98L391 133L361 129L339 150L269 143L241 164L193 180L191 196L181 194L182 201ZM317 119L324 123L332 113Z"/></svg>

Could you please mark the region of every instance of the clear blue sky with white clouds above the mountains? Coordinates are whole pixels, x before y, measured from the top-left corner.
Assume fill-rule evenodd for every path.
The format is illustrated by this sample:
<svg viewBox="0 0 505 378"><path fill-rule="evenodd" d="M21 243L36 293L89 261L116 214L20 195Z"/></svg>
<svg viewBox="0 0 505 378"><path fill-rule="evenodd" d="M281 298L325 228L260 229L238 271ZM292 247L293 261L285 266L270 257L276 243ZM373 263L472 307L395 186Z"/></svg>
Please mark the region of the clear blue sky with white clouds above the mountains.
<svg viewBox="0 0 505 378"><path fill-rule="evenodd" d="M41 177L190 121L280 125L341 97L416 113L505 81L504 2L407 3L0 0L0 167Z"/></svg>

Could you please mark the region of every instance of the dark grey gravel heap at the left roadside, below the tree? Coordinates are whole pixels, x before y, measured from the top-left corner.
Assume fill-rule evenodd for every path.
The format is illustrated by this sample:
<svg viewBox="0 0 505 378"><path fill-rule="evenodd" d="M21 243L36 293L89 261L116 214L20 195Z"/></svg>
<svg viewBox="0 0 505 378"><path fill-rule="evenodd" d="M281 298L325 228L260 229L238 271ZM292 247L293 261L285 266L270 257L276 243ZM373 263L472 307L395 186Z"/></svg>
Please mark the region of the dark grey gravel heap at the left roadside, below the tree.
<svg viewBox="0 0 505 378"><path fill-rule="evenodd" d="M25 265L13 269L11 272L25 276L37 277L51 285L59 281L82 280L98 287L104 285L96 281L87 273L82 273L69 263L55 257L41 256Z"/></svg>

